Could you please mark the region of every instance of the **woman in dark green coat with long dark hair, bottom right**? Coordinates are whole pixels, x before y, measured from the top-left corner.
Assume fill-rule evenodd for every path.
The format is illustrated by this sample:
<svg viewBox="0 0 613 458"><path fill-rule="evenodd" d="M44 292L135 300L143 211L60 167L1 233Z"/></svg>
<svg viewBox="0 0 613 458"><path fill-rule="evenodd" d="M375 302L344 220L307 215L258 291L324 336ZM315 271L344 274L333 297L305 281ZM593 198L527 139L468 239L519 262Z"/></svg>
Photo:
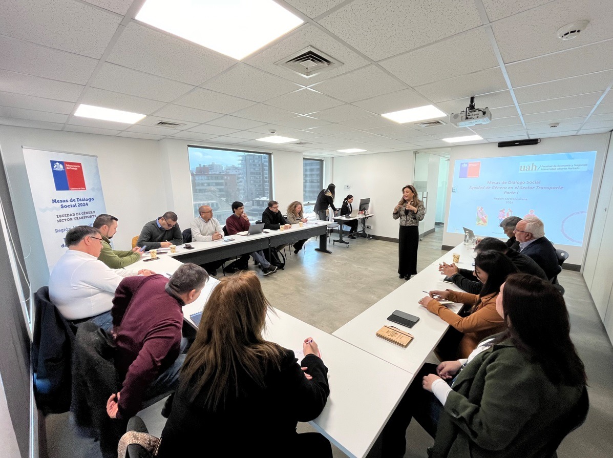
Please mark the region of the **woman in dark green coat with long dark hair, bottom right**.
<svg viewBox="0 0 613 458"><path fill-rule="evenodd" d="M467 359L416 374L383 429L382 456L404 456L411 417L435 437L433 458L555 456L588 403L562 294L516 273L500 285L496 310L508 329Z"/></svg>

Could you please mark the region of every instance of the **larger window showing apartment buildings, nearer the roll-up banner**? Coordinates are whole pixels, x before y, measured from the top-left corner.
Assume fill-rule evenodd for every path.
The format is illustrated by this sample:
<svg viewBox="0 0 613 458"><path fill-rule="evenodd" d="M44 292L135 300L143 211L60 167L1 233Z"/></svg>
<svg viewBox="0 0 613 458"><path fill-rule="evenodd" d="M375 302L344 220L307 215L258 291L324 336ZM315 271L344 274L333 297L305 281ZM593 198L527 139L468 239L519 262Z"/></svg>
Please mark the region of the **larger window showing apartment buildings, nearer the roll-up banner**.
<svg viewBox="0 0 613 458"><path fill-rule="evenodd" d="M249 219L262 218L272 196L271 155L240 150L188 147L194 217L210 205L220 224L232 215L232 202L245 204Z"/></svg>

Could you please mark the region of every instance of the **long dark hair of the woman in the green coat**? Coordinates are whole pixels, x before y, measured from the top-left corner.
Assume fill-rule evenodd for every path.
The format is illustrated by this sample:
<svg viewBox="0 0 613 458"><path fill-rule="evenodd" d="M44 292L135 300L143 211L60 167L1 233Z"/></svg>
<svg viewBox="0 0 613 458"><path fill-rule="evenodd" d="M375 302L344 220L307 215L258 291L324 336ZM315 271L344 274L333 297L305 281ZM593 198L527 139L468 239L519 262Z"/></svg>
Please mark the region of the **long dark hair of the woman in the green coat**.
<svg viewBox="0 0 613 458"><path fill-rule="evenodd" d="M569 335L566 303L551 283L528 273L509 275L502 307L511 341L531 361L541 364L552 383L577 386L586 382L584 364Z"/></svg>

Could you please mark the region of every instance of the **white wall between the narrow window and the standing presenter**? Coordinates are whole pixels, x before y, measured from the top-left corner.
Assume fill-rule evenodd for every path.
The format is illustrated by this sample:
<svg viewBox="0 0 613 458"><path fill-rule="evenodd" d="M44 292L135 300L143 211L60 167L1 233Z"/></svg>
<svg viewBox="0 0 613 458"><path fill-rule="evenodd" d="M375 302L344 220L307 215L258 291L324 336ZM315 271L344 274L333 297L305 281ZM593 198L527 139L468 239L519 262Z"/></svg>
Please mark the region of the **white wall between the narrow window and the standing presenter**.
<svg viewBox="0 0 613 458"><path fill-rule="evenodd" d="M369 211L375 215L368 219L370 233L398 239L398 221L392 219L392 210L402 198L402 186L413 182L413 157L413 151L397 151L334 158L335 205L340 206L347 194L353 194L357 202L370 197ZM346 191L344 185L351 189Z"/></svg>

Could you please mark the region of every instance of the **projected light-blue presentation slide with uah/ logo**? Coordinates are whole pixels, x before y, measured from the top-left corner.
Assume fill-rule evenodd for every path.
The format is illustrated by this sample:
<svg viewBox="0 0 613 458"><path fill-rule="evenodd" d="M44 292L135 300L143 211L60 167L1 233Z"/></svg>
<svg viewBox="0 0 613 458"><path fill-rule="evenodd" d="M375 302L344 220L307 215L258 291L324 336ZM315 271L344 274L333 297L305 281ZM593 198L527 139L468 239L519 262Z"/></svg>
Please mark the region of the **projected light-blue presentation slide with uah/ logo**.
<svg viewBox="0 0 613 458"><path fill-rule="evenodd" d="M507 216L537 216L552 243L582 246L596 151L455 161L447 232L506 238Z"/></svg>

